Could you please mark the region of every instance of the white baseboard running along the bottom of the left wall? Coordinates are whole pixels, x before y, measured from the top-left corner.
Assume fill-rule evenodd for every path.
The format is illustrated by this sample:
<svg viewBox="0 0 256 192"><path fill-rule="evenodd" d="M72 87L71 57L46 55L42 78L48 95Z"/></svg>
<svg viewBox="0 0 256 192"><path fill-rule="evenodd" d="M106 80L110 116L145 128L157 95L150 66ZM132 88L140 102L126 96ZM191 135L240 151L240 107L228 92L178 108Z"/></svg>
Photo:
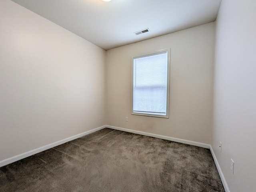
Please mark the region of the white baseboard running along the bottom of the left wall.
<svg viewBox="0 0 256 192"><path fill-rule="evenodd" d="M98 128L95 128L95 129L92 129L92 130L89 130L89 131L86 131L86 132L83 132L83 133L80 133L80 134L77 134L77 135L74 135L74 136L71 136L71 137L68 137L66 139L62 139L60 141L57 141L57 142L54 142L52 144L48 144L48 145L42 146L40 148L36 148L36 149L31 150L31 151L28 151L28 152L25 152L25 153L22 153L22 154L10 157L8 159L0 161L0 167L8 165L8 164L13 163L13 162L16 162L16 161L21 160L23 158L32 156L32 155L37 154L39 152L48 150L50 148L56 147L58 145L64 144L66 142L72 141L74 139L80 138L82 136L86 136L86 135L88 135L90 133L96 132L96 131L104 129L104 128L106 128L106 125L98 127Z"/></svg>

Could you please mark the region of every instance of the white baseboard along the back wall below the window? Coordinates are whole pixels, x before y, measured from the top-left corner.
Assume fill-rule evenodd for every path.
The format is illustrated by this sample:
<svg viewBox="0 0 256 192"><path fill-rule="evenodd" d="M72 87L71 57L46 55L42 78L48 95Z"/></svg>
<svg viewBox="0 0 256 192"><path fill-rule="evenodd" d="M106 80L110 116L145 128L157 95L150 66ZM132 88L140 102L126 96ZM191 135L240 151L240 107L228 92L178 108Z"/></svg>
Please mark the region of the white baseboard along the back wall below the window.
<svg viewBox="0 0 256 192"><path fill-rule="evenodd" d="M190 141L190 140L185 140L185 139L179 139L179 138L174 138L174 137L168 137L168 136L163 136L163 135L158 135L158 134L153 134L153 133L147 133L147 132L142 132L142 131L136 131L136 130L131 130L131 129L125 129L125 128L120 128L120 127L115 127L115 126L110 126L106 125L107 128L115 129L115 130L120 130L120 131L125 131L125 132L130 132L130 133L135 133L135 134L140 134L140 135L145 135L145 136L150 136L150 137L155 137L159 139L164 139L164 140L169 140L169 141L174 141L178 143L184 143L184 144L189 144L189 145L194 145L198 147L203 147L203 148L210 148L209 144L205 143L200 143L200 142L195 142L195 141Z"/></svg>

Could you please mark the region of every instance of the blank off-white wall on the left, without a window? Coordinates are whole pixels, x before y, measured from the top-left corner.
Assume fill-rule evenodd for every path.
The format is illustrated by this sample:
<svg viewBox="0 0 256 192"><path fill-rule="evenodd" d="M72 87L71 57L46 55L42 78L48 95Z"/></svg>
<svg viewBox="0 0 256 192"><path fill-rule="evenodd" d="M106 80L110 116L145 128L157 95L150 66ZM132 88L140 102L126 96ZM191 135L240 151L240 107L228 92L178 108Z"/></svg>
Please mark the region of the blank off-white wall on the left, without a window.
<svg viewBox="0 0 256 192"><path fill-rule="evenodd" d="M0 1L0 160L106 124L105 54Z"/></svg>

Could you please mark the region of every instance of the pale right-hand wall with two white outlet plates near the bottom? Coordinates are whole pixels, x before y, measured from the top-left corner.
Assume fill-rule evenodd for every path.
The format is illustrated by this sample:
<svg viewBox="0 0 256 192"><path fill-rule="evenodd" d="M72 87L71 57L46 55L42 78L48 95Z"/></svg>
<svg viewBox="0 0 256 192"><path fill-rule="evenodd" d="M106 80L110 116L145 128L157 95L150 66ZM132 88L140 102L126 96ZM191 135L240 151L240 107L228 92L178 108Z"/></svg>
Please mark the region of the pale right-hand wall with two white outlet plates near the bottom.
<svg viewBox="0 0 256 192"><path fill-rule="evenodd" d="M222 0L216 26L215 60L214 153L231 192L255 192L255 0ZM230 158L235 162L234 175Z"/></svg>

